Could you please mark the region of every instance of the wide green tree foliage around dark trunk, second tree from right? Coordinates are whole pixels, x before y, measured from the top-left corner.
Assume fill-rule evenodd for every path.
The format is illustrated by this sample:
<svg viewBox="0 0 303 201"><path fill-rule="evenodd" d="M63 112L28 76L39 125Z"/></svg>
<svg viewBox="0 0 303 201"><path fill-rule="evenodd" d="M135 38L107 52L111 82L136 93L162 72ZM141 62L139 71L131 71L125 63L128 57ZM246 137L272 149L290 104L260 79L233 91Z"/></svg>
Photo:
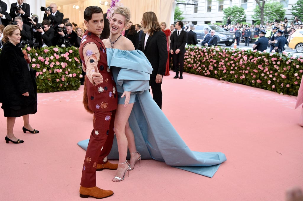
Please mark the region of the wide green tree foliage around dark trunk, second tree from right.
<svg viewBox="0 0 303 201"><path fill-rule="evenodd" d="M284 21L283 19L286 11L283 5L280 2L267 2L266 4L265 2L266 1L264 0L261 3L259 1L258 5L254 9L255 14L252 16L252 18L256 21L255 24L264 25L264 22L275 22L276 20Z"/></svg>

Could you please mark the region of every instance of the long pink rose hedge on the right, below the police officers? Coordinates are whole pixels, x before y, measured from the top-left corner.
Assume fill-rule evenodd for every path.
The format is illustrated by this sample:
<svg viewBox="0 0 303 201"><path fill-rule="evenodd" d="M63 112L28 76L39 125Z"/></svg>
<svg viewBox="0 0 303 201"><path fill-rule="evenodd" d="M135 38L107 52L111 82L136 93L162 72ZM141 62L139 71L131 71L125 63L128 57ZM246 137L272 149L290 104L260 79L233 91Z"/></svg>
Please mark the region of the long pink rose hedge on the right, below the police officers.
<svg viewBox="0 0 303 201"><path fill-rule="evenodd" d="M184 71L297 96L303 58L250 49L188 46Z"/></svg>

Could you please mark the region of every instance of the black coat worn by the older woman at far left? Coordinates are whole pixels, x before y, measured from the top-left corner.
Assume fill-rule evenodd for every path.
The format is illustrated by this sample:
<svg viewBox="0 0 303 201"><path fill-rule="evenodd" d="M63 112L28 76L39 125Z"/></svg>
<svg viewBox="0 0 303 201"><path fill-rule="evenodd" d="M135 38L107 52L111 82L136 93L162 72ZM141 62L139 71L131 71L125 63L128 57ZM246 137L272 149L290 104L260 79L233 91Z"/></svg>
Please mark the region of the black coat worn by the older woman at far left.
<svg viewBox="0 0 303 201"><path fill-rule="evenodd" d="M20 47L8 42L0 53L0 102L7 105L30 105L37 102L36 71L28 64ZM22 94L28 92L29 96Z"/></svg>

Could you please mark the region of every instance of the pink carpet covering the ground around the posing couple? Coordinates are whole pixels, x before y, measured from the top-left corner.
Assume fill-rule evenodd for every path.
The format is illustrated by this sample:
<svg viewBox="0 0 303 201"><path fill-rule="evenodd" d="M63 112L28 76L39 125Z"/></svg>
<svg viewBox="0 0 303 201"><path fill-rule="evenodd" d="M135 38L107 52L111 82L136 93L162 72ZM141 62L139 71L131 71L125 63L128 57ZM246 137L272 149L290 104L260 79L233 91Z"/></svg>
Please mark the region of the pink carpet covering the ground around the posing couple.
<svg viewBox="0 0 303 201"><path fill-rule="evenodd" d="M114 191L106 200L285 200L289 187L303 187L303 127L296 97L184 73L163 78L163 112L193 151L223 152L227 161L213 178L141 161L130 177L114 183L115 171L97 172L97 186ZM38 134L5 143L6 118L0 110L1 200L85 200L79 197L92 115L78 91L38 94L30 116ZM88 198L87 200L93 200Z"/></svg>

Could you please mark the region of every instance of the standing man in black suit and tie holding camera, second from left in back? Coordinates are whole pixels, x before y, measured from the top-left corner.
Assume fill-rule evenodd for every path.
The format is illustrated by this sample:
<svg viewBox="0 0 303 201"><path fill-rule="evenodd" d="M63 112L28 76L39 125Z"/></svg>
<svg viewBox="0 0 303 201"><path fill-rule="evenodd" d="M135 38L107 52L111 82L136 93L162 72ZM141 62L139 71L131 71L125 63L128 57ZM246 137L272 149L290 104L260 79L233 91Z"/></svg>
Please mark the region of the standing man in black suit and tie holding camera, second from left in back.
<svg viewBox="0 0 303 201"><path fill-rule="evenodd" d="M12 19L19 16L22 18L22 21L25 24L31 25L30 22L26 21L26 19L29 17L30 14L31 11L29 8L29 4L24 3L24 0L18 0L17 3L11 4L11 10L9 12L9 15L11 16Z"/></svg>

